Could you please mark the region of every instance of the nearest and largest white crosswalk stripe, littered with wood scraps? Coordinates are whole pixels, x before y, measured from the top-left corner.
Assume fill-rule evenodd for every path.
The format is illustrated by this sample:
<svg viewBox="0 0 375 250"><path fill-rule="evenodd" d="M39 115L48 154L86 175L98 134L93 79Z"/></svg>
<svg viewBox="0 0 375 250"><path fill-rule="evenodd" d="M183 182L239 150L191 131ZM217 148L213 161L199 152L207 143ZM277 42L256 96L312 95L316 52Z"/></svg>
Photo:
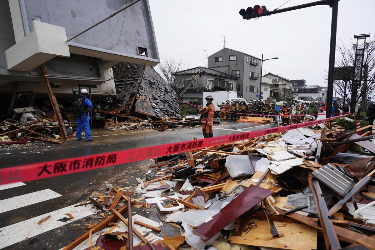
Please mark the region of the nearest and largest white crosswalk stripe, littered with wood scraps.
<svg viewBox="0 0 375 250"><path fill-rule="evenodd" d="M68 217L65 215L66 213L70 213L72 216L74 216L74 220L79 220L96 213L96 210L92 205L79 207L74 207L74 205L71 205L41 216L24 220L23 222L18 222L4 228L0 228L0 249L23 241L26 239L26 237L31 238L73 222L73 220L68 220L66 222L59 221L64 217ZM40 225L37 224L40 220L45 219L47 216L50 216L48 220Z"/></svg>

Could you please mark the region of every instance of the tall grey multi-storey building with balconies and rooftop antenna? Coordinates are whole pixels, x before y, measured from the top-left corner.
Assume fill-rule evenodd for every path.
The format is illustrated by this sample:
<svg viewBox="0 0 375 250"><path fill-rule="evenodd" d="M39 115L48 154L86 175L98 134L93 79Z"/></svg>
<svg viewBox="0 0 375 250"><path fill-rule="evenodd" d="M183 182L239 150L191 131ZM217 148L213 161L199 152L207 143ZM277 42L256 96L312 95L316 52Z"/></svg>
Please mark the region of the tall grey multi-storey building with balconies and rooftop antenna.
<svg viewBox="0 0 375 250"><path fill-rule="evenodd" d="M234 49L223 48L208 57L208 67L236 76L236 91L247 101L259 99L261 59ZM258 95L258 97L257 97Z"/></svg>

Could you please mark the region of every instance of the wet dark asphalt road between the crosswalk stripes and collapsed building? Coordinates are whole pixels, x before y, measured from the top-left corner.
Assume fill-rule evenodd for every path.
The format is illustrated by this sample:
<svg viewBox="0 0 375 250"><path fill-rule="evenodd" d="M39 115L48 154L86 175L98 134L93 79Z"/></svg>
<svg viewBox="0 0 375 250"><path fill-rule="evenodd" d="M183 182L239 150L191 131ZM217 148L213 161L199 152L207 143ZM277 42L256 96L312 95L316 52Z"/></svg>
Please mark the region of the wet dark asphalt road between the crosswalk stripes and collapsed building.
<svg viewBox="0 0 375 250"><path fill-rule="evenodd" d="M273 124L262 125L258 123L223 122L214 126L213 133L214 136L220 136L270 127L273 127ZM92 135L93 139L95 139L93 142L85 142L84 140L77 141L75 138L71 138L61 145L29 143L25 145L18 144L2 146L0 147L0 168L172 142L190 141L193 137L198 139L202 138L202 130L201 127L178 127L177 129L168 129L165 132L148 129L138 131L108 131L95 129L93 130ZM51 189L61 195L54 199L38 202L36 204L13 209L4 213L1 213L0 211L0 227L3 228L5 226L10 226L17 222L22 222L42 214L50 213L54 210L86 201L92 192L98 191L102 187L106 187L106 182L111 183L114 186L121 184L123 186L134 186L137 184L135 178L143 178L142 170L144 172L144 170L147 169L145 166L152 164L153 160L144 160L141 162L95 169L61 177L30 181L25 183L26 185L24 186L0 190L0 202L4 199L27 195L45 189ZM119 180L122 181L118 183L117 181ZM148 209L148 213L146 210L147 209L144 207L133 209L136 213L159 222L158 217L154 213L155 209ZM167 230L163 229L163 233L166 232L169 236L178 232L177 228L173 226L168 225L167 227ZM17 231L17 228L15 228L15 231ZM4 249L58 250L83 233L83 230L73 231L72 226L68 224L36 235L35 237L28 238L27 240L20 241L19 243L5 247Z"/></svg>

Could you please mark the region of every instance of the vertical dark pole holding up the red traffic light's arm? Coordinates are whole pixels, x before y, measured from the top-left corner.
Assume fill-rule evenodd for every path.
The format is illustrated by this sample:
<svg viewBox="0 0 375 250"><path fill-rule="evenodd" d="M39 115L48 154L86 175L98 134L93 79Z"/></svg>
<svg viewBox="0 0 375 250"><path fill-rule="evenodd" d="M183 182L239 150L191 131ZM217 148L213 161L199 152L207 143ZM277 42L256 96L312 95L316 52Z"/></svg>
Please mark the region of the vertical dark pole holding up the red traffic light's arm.
<svg viewBox="0 0 375 250"><path fill-rule="evenodd" d="M336 31L337 31L337 15L338 15L338 9L339 9L339 0L332 1L331 7L332 7L332 21L331 21L331 41L330 41L330 49L329 49L329 64L328 64L326 118L332 117L333 77L334 77L334 71L335 71Z"/></svg>

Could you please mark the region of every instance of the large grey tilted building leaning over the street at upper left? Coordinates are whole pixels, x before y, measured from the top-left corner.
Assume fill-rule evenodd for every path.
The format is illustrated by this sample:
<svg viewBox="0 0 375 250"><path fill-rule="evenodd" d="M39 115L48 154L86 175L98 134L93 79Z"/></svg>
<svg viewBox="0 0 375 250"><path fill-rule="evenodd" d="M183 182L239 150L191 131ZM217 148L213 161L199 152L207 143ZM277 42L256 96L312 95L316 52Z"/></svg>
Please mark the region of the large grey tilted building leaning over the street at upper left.
<svg viewBox="0 0 375 250"><path fill-rule="evenodd" d="M112 67L120 62L156 66L156 45L148 0L74 37L130 0L4 0L0 15L0 95L12 82L17 91L47 97L39 65L44 64L56 97L72 99L78 85L93 94L115 92ZM40 84L42 83L42 84Z"/></svg>

